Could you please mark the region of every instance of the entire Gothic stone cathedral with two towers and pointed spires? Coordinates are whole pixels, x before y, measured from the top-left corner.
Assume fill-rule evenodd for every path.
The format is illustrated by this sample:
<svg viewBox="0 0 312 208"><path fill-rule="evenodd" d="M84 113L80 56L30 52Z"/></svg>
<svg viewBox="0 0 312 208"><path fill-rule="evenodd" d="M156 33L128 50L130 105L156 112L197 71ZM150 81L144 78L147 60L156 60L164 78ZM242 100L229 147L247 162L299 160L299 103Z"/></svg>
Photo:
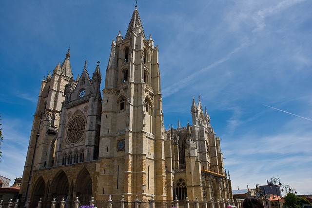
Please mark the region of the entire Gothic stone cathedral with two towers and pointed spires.
<svg viewBox="0 0 312 208"><path fill-rule="evenodd" d="M92 73L89 74L88 71ZM21 202L233 200L231 180L200 97L192 123L164 126L158 46L137 6L99 66L76 79L70 50L41 82L20 186Z"/></svg>

